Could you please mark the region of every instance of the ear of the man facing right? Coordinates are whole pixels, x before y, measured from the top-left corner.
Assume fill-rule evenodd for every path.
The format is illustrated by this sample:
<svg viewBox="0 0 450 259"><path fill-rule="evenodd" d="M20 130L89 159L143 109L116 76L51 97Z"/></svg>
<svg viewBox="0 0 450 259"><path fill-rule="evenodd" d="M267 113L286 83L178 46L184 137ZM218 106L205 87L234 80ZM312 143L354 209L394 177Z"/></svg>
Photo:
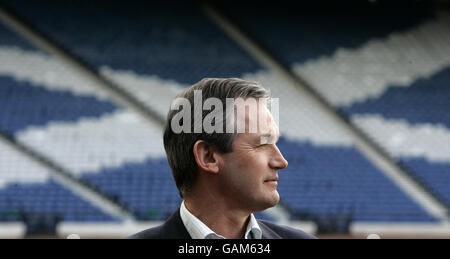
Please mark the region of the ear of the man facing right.
<svg viewBox="0 0 450 259"><path fill-rule="evenodd" d="M219 172L219 154L217 148L203 140L195 142L193 150L198 167L206 172L217 174Z"/></svg>

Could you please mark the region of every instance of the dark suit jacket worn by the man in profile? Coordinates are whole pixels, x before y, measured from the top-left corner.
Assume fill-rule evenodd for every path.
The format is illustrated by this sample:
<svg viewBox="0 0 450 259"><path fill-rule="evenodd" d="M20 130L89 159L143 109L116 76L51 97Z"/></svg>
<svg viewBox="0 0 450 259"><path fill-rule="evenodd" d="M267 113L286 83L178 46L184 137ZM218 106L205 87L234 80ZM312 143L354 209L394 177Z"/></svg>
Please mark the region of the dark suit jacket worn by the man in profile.
<svg viewBox="0 0 450 259"><path fill-rule="evenodd" d="M294 228L276 225L264 220L257 220L262 231L263 239L315 239L315 236L307 234L301 230ZM184 227L181 220L180 210L176 211L170 218L161 226L149 228L139 233L136 233L129 239L191 239L189 232Z"/></svg>

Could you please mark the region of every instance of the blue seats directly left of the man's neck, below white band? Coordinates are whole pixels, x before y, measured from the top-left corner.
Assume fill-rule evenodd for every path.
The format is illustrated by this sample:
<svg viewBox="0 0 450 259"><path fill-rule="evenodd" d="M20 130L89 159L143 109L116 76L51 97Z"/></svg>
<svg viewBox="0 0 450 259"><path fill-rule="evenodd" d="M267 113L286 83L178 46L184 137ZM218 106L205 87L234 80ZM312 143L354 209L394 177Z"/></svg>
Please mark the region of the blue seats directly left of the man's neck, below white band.
<svg viewBox="0 0 450 259"><path fill-rule="evenodd" d="M162 220L181 203L165 159L126 163L100 173L83 174L82 179L129 206L141 220Z"/></svg>

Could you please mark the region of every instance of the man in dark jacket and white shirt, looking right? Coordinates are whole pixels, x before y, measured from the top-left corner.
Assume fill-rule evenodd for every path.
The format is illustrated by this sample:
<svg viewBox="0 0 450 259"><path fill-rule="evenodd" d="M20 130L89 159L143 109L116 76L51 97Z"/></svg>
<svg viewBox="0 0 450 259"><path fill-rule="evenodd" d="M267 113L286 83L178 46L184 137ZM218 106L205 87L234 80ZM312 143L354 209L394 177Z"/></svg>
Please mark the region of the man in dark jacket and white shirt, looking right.
<svg viewBox="0 0 450 259"><path fill-rule="evenodd" d="M277 172L288 165L276 146L278 126L263 104L268 97L259 84L237 78L206 78L178 96L164 147L183 202L163 225L130 238L315 238L253 216L279 202ZM232 108L218 108L230 99Z"/></svg>

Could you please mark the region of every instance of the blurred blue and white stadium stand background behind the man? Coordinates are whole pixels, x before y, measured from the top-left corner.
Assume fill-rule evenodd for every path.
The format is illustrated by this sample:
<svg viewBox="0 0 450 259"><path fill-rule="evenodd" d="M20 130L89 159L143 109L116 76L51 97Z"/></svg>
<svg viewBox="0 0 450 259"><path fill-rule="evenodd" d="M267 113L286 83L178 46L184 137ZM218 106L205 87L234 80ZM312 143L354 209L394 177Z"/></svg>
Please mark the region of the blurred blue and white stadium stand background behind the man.
<svg viewBox="0 0 450 259"><path fill-rule="evenodd" d="M321 238L449 238L450 2L0 0L0 238L124 238L178 209L162 145L204 77L279 98L281 202Z"/></svg>

